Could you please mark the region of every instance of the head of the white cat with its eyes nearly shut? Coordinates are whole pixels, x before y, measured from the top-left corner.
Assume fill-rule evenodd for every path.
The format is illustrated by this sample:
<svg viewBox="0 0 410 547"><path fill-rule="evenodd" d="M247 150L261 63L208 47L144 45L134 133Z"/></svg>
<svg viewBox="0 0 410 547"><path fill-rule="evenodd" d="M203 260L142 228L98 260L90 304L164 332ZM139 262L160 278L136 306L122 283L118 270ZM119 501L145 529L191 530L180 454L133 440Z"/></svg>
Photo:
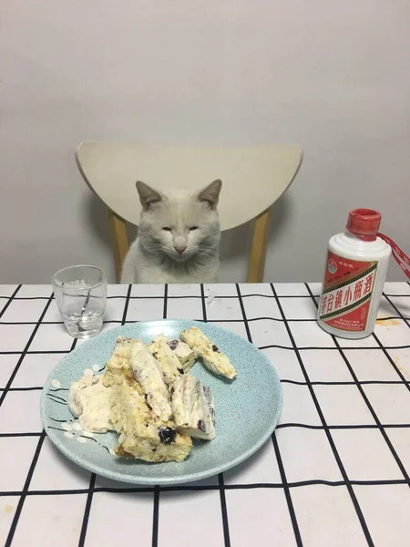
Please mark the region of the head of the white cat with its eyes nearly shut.
<svg viewBox="0 0 410 547"><path fill-rule="evenodd" d="M217 205L221 181L200 191L157 191L137 182L142 205L138 238L152 253L184 262L200 253L215 253L220 242Z"/></svg>

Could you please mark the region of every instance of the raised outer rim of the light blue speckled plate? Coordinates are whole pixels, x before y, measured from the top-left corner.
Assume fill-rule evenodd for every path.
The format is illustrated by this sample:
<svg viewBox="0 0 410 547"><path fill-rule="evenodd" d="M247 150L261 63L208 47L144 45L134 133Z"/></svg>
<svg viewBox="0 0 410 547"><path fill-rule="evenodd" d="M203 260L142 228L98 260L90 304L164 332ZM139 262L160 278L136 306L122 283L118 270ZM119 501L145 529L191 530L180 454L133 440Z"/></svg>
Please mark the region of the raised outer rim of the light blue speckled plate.
<svg viewBox="0 0 410 547"><path fill-rule="evenodd" d="M151 327L155 327L157 325L167 325L169 323L171 323L172 325L175 325L175 324L178 324L179 322L181 324L183 323L184 325L186 325L186 323L189 322L191 325L198 326L199 328L201 328L204 325L203 323L201 323L199 321L178 320L178 319L162 319L162 320L158 320L158 321L141 321L141 322L136 322L136 325L144 324L144 325L148 325L148 326L151 326ZM130 325L130 324L128 324L128 325ZM282 383L281 383L280 377L278 376L278 373L276 372L274 366L272 366L271 361L266 356L263 355L263 353L261 352L261 350L257 346L254 346L253 344L251 344L251 342L246 340L246 338L244 338L243 336L237 335L236 333L233 333L232 331L230 331L226 328L223 328L220 325L212 325L214 328L217 328L218 330L223 331L225 333L225 335L228 335L228 336L233 337L233 338L240 338L242 342L245 342L246 344L249 344L250 346L253 346L258 351L258 353L260 355L260 358L261 358L261 362L264 362L266 366L269 366L271 368L271 371L273 373L273 377L275 378L276 383L277 383L278 406L277 406L276 412L272 415L270 425L265 428L264 433L261 435L260 439L258 439L258 441L253 446L251 446L251 448L245 449L241 453L241 455L238 456L237 458L232 459L231 461L226 462L225 464L216 465L214 468L212 468L210 470L196 471L195 473L186 473L186 474L183 474L183 475L178 475L176 477L160 477L160 476L157 476L157 477L143 477L143 476L140 476L140 475L137 475L137 474L136 475L128 475L128 474L125 474L125 473L122 473L122 472L119 472L119 471L108 470L106 467L103 467L103 466L89 464L86 459L78 457L74 450L68 449L67 445L60 442L60 440L57 438L56 433L54 431L50 431L50 432L47 431L47 428L46 428L46 419L47 419L47 417L46 417L46 412L45 412L46 393L47 393L46 386L48 386L49 383L51 382L51 379L53 377L55 377L56 367L61 366L61 364L64 363L64 361L66 359L68 359L69 356L72 356L75 352L77 353L79 351L82 351L82 348L88 342L90 342L91 340L95 340L97 337L105 337L106 335L108 335L108 333L110 333L111 335L114 335L116 333L117 333L117 335L121 335L122 330L123 330L123 326L124 325L121 325L121 326L109 329L108 331L105 331L104 333L100 333L99 335L97 335L97 336L91 338L90 340L87 340L86 342L84 342L81 346L76 347L73 351L69 352L67 354L67 356L64 356L60 361L58 361L58 363L56 364L56 366L53 368L53 370L51 371L51 373L49 374L49 376L46 379L45 386L42 389L41 398L40 398L40 417L41 417L41 421L42 421L42 424L43 424L43 428L46 431L46 435L47 435L48 439L50 439L51 442L56 446L56 448L58 450L60 450L60 452L62 452L68 459L70 459L71 461L73 461L74 463L76 463L78 466L80 466L81 468L83 468L85 470L96 473L97 475L100 475L101 477L105 477L105 478L111 479L111 480L116 480L116 481L119 481L119 482L126 482L126 483L131 483L131 484L140 484L140 485L149 485L149 486L178 485L178 484L185 484L187 482L192 482L192 481L196 481L196 480L208 479L210 477L214 477L215 475L218 475L219 473L222 473L223 471L231 470L232 468L236 467L237 465L239 465L240 463L242 463L246 459L251 458L251 456L255 452L257 452L259 449L261 449L261 447L265 444L265 442L272 436L272 433L273 433L274 429L276 428L276 426L278 424L279 418L281 418L282 407L283 407ZM136 470L137 470L137 467L136 467Z"/></svg>

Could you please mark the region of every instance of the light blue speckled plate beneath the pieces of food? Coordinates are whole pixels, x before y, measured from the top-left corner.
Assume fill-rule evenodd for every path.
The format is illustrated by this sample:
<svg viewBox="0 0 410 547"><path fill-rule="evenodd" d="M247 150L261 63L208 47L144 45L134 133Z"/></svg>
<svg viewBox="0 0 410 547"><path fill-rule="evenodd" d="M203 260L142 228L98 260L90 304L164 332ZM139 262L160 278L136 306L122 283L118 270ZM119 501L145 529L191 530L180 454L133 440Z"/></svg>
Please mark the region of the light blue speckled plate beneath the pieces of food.
<svg viewBox="0 0 410 547"><path fill-rule="evenodd" d="M215 377L200 362L191 369L215 399L216 439L194 440L190 456L183 462L147 463L114 456L110 449L115 433L87 438L67 422L74 417L67 407L71 382L86 368L102 370L117 336L132 336L149 342L163 333L179 338L182 329L197 325L220 351L230 357L238 376L233 381ZM270 361L247 340L209 323L164 320L119 326L95 338L64 357L47 378L41 397L41 419L49 439L67 458L81 467L109 479L136 484L181 484L228 470L249 458L272 435L282 411L282 386ZM67 429L70 429L67 431Z"/></svg>

